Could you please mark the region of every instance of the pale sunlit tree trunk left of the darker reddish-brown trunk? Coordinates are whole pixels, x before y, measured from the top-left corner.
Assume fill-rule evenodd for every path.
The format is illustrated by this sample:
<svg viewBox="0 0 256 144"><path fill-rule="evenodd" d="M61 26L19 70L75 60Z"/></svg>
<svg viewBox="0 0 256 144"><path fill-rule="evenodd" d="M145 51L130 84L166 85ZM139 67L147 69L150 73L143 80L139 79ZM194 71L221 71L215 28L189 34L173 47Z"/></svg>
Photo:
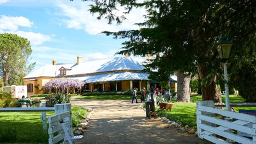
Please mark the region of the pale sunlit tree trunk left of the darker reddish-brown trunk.
<svg viewBox="0 0 256 144"><path fill-rule="evenodd" d="M177 72L177 101L179 102L190 102L189 83L191 74L184 74Z"/></svg>

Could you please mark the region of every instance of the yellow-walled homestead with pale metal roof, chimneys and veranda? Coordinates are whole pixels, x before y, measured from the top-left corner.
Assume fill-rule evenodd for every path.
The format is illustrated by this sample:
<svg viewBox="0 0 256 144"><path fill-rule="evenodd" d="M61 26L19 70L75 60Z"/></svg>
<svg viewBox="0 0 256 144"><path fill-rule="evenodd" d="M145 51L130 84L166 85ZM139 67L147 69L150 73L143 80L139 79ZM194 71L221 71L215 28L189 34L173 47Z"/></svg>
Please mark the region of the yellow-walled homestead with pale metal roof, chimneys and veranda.
<svg viewBox="0 0 256 144"><path fill-rule="evenodd" d="M133 88L154 88L161 86L149 81L149 74L142 72L142 61L136 61L129 56L121 56L105 60L83 61L77 56L76 63L56 63L44 65L28 76L23 77L24 85L28 88L28 95L42 94L45 83L52 78L68 77L84 81L86 92L121 92ZM173 85L175 87L175 84Z"/></svg>

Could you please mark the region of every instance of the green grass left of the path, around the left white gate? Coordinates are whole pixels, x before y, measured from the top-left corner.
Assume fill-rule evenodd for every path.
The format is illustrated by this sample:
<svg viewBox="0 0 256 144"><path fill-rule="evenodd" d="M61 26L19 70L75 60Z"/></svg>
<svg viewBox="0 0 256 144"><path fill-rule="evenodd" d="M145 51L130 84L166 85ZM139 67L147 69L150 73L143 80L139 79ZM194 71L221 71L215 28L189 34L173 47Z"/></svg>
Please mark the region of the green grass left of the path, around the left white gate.
<svg viewBox="0 0 256 144"><path fill-rule="evenodd" d="M78 125L87 110L77 106L72 107L73 125ZM49 134L42 130L41 112L3 112L0 115L1 143L48 143ZM47 117L54 112L47 112Z"/></svg>

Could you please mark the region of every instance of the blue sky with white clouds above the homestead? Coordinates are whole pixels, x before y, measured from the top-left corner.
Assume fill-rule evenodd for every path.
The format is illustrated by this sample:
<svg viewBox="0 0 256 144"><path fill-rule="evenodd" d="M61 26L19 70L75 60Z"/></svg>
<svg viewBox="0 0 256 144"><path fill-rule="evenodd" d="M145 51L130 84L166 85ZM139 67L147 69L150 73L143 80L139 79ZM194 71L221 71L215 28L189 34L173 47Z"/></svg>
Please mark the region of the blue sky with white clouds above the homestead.
<svg viewBox="0 0 256 144"><path fill-rule="evenodd" d="M100 32L139 29L134 23L143 22L145 11L133 10L121 25L109 25L88 12L89 4L81 0L0 0L0 33L28 38L33 50L29 63L36 62L35 69L52 60L74 63L77 56L84 61L118 56L115 53L125 40Z"/></svg>

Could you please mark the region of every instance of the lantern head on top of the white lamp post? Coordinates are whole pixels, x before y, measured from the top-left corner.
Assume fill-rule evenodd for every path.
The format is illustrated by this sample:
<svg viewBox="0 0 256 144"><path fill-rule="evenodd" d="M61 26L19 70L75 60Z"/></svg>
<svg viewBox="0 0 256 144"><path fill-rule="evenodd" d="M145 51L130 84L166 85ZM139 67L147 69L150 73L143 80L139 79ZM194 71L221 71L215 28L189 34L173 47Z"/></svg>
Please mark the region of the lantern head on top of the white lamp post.
<svg viewBox="0 0 256 144"><path fill-rule="evenodd" d="M216 47L221 59L228 59L231 46L231 42L225 37L221 37L220 40L218 40Z"/></svg>

